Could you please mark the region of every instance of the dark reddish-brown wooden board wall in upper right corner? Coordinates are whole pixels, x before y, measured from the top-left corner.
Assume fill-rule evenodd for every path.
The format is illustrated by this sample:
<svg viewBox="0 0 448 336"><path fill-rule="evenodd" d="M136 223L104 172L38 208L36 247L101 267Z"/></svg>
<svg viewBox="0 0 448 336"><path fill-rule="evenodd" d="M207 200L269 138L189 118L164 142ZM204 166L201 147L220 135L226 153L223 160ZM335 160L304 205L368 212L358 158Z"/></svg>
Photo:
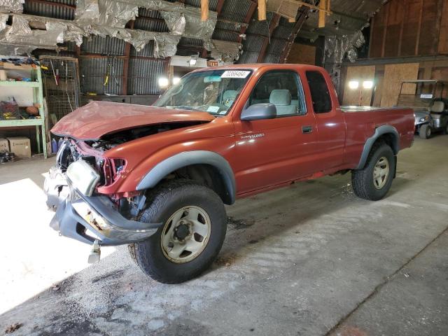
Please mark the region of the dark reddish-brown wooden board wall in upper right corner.
<svg viewBox="0 0 448 336"><path fill-rule="evenodd" d="M372 18L370 58L448 54L448 0L391 0Z"/></svg>

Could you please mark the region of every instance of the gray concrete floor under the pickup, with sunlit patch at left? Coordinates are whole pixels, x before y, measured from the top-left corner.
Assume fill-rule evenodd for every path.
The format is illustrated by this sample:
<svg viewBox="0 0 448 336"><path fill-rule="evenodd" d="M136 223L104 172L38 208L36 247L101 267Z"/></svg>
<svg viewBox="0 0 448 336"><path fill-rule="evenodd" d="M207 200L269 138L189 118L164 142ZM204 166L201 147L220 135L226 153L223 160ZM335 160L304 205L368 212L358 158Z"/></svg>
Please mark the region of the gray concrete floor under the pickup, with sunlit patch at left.
<svg viewBox="0 0 448 336"><path fill-rule="evenodd" d="M90 246L48 227L53 160L1 165L0 332L448 335L447 152L448 137L416 139L380 202L356 198L349 174L239 200L212 269L175 286L124 246L87 267Z"/></svg>

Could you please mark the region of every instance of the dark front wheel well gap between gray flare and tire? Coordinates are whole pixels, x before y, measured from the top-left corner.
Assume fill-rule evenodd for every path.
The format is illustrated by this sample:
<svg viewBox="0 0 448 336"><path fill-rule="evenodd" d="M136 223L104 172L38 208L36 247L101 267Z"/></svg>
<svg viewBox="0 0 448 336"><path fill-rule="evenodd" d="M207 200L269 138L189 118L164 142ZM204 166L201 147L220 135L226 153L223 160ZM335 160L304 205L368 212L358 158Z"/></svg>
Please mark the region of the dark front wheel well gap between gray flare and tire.
<svg viewBox="0 0 448 336"><path fill-rule="evenodd" d="M189 165L179 168L167 175L165 179L190 179L204 184L214 190L224 204L232 204L230 190L225 185L223 176L218 168L212 165Z"/></svg>

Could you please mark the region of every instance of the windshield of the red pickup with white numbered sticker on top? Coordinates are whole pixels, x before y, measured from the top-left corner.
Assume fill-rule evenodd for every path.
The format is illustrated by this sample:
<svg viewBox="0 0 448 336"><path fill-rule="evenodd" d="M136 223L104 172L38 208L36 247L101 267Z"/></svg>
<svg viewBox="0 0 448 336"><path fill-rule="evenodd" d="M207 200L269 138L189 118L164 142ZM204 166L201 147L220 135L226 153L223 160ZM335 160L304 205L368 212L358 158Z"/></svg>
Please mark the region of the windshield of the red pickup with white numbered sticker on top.
<svg viewBox="0 0 448 336"><path fill-rule="evenodd" d="M204 111L225 116L243 89L251 71L210 70L188 73L155 102L154 106Z"/></svg>

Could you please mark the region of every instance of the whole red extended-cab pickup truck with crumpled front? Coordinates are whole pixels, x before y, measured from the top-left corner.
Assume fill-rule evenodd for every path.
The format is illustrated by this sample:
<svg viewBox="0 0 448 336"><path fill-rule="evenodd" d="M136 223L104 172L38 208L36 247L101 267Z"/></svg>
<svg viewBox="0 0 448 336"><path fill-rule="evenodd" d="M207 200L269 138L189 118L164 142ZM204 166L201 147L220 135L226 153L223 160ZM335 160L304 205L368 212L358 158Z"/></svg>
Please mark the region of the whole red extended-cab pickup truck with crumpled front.
<svg viewBox="0 0 448 336"><path fill-rule="evenodd" d="M154 106L91 102L52 133L50 226L93 244L92 259L129 244L143 272L176 283L216 258L237 197L351 172L358 197L383 198L414 116L340 107L317 66L241 64L188 73Z"/></svg>

